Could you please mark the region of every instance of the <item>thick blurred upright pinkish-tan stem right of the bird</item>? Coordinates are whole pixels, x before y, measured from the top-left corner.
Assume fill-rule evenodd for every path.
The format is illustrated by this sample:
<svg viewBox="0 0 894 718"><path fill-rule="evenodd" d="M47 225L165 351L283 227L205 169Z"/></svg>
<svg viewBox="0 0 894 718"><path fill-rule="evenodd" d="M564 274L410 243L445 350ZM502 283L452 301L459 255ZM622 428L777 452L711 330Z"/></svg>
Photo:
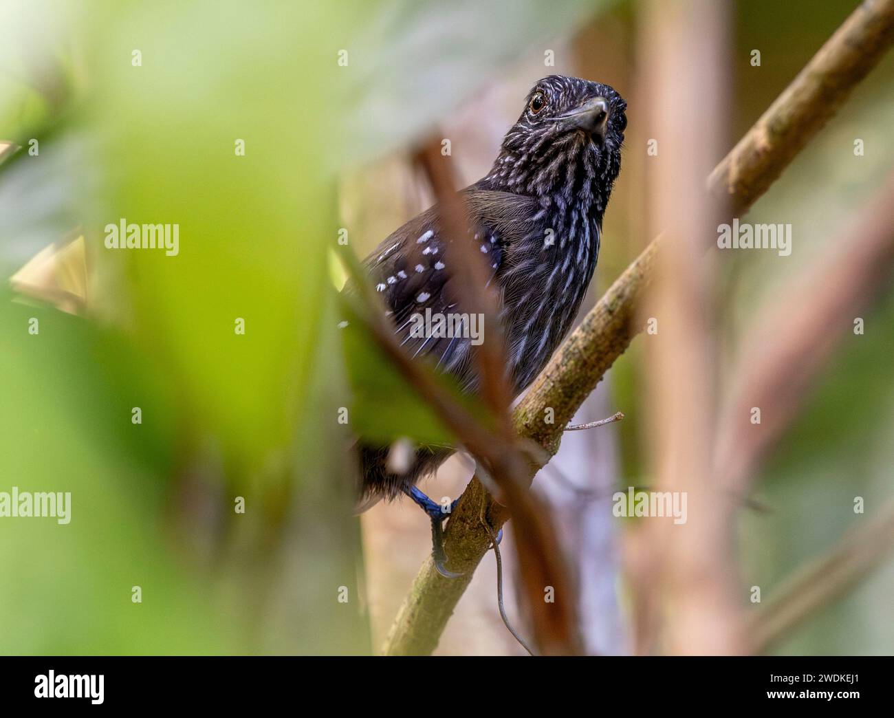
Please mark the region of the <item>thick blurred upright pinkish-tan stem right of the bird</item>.
<svg viewBox="0 0 894 718"><path fill-rule="evenodd" d="M705 198L704 176L725 146L729 7L652 0L644 10L639 64L653 88L646 112L656 136L668 138L647 203L650 224L664 237L645 301L661 326L646 351L647 454L656 490L687 496L688 510L680 523L650 519L630 529L646 536L637 536L639 550L627 552L625 566L635 595L634 649L740 654L735 507L712 475L717 255L704 256L724 209L718 197ZM675 104L678 111L668 113Z"/></svg>

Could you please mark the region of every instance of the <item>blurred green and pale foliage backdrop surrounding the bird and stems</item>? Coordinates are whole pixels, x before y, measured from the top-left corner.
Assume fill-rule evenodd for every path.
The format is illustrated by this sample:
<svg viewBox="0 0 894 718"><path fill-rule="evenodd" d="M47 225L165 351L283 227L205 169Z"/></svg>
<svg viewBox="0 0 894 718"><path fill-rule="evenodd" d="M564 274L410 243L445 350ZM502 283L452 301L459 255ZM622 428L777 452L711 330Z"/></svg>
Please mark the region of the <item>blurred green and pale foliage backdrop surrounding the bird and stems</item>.
<svg viewBox="0 0 894 718"><path fill-rule="evenodd" d="M730 4L715 161L855 5ZM465 186L537 79L598 80L627 98L628 131L586 311L652 239L662 156L647 154L658 128L641 109L654 92L645 6L0 5L0 491L72 494L68 525L0 518L0 652L378 649L430 528L403 502L352 516L352 435L437 428L406 386L376 384L387 367L371 345L344 360L331 251L346 231L365 257L430 206L418 143L450 139ZM890 55L749 215L791 223L791 256L721 257L721 393L759 310L890 173L892 126ZM105 249L121 218L179 224L179 253ZM855 496L871 514L890 495L894 292L864 319L740 513L743 605L853 528ZM591 653L633 650L622 546L648 519L612 517L611 494L653 480L646 359L635 340L576 421L626 418L567 435L534 485L558 519ZM346 364L366 367L367 391ZM455 498L472 470L455 456L423 488ZM507 610L524 631L504 546ZM892 588L889 562L772 651L890 653ZM492 556L437 653L523 653L500 621Z"/></svg>

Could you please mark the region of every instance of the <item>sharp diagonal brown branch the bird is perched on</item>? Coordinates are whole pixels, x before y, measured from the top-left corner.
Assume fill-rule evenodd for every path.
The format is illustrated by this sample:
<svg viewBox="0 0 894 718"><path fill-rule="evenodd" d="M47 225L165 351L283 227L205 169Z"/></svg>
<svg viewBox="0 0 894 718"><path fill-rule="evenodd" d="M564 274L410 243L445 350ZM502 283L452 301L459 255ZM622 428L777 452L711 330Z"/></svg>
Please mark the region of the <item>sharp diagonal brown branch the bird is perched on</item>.
<svg viewBox="0 0 894 718"><path fill-rule="evenodd" d="M714 169L709 190L725 195L735 214L745 213L881 60L892 39L894 0L867 0L856 8ZM563 427L640 331L637 305L652 278L657 242L649 244L611 285L514 411L516 432L545 452L558 451ZM553 424L544 421L548 408L554 412ZM536 466L530 477L535 473ZM385 654L429 654L437 646L472 571L490 545L478 519L481 511L490 516L494 529L509 518L476 477L462 494L444 535L451 561L464 576L445 582L431 560L426 560L395 618Z"/></svg>

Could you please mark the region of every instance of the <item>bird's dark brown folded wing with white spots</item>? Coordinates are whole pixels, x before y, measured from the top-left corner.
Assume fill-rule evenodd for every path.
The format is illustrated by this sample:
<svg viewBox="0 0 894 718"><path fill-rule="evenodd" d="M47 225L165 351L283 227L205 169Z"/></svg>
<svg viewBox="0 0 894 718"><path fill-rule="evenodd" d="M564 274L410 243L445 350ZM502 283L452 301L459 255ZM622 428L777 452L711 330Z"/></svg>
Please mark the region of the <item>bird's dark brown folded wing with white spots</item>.
<svg viewBox="0 0 894 718"><path fill-rule="evenodd" d="M536 202L474 187L464 190L462 196L470 227L466 241L473 242L485 256L492 281L513 243L531 231L529 217L536 211L532 204ZM468 371L471 335L482 327L472 324L476 317L460 315L462 295L451 271L454 257L434 206L392 232L367 257L365 265L409 355L432 357L440 369L465 383L473 381ZM432 323L424 326L421 320L426 316L432 317ZM441 329L435 324L440 321L437 317L444 317L446 324Z"/></svg>

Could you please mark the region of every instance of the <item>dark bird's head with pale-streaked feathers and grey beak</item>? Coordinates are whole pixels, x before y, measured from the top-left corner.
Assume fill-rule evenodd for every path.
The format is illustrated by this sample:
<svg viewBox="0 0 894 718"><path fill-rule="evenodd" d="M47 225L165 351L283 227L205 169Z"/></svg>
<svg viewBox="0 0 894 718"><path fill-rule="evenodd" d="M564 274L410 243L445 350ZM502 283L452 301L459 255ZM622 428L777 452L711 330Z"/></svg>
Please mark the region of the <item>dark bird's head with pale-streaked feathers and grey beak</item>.
<svg viewBox="0 0 894 718"><path fill-rule="evenodd" d="M524 194L552 192L571 181L598 182L611 191L626 109L624 98L599 82L562 75L538 80L488 180Z"/></svg>

